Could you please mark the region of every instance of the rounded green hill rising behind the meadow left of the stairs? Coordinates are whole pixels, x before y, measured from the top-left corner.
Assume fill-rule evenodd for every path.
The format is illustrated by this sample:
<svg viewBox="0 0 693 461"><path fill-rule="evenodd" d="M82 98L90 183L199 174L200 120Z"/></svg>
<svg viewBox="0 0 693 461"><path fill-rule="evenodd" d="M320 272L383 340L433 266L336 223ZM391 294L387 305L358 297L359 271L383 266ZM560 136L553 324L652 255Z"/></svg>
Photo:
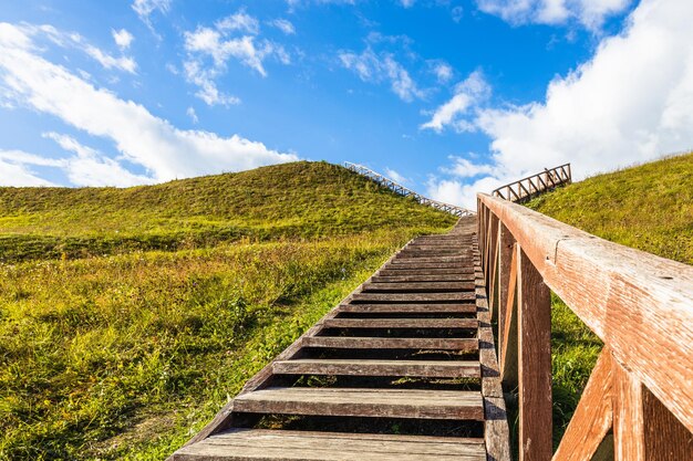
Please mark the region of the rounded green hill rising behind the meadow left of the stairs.
<svg viewBox="0 0 693 461"><path fill-rule="evenodd" d="M300 161L127 189L0 188L0 258L175 250L454 222L342 167Z"/></svg>

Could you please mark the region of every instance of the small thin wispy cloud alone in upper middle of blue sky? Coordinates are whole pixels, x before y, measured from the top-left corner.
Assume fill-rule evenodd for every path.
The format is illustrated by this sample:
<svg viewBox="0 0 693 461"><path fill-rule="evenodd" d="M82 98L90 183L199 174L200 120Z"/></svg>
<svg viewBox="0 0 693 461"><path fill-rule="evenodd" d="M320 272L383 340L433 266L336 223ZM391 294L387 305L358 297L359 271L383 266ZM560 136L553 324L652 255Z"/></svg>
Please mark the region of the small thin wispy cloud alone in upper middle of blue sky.
<svg viewBox="0 0 693 461"><path fill-rule="evenodd" d="M408 103L425 96L406 69L390 53L375 54L369 46L361 54L342 51L339 59L343 67L354 72L363 82L390 82L392 91L402 101Z"/></svg>

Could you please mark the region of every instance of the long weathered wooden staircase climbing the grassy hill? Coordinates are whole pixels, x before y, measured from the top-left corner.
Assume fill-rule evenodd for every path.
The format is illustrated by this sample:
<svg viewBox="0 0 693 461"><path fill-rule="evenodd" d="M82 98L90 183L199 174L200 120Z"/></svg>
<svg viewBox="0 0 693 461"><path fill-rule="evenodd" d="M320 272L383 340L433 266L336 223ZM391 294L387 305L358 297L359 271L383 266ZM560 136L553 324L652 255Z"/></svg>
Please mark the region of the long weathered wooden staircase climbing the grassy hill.
<svg viewBox="0 0 693 461"><path fill-rule="evenodd" d="M170 459L509 459L475 229L411 241Z"/></svg>

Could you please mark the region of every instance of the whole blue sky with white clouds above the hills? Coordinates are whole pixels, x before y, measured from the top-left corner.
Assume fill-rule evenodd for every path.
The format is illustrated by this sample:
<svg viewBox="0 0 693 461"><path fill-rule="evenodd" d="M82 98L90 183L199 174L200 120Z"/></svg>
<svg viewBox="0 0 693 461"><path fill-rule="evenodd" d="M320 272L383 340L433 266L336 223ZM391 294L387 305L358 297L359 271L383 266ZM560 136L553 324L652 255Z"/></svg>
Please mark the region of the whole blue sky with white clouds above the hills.
<svg viewBox="0 0 693 461"><path fill-rule="evenodd" d="M298 159L433 198L693 147L693 1L0 4L0 185Z"/></svg>

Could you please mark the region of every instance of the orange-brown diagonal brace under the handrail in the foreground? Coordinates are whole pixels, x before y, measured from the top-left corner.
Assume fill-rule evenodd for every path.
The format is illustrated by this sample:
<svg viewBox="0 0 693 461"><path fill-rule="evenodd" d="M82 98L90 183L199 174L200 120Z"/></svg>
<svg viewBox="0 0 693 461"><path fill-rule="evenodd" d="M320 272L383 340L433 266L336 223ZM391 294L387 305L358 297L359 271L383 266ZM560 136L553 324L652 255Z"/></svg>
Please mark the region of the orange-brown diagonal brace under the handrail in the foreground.
<svg viewBox="0 0 693 461"><path fill-rule="evenodd" d="M591 460L612 423L613 359L602 349L554 461Z"/></svg>

